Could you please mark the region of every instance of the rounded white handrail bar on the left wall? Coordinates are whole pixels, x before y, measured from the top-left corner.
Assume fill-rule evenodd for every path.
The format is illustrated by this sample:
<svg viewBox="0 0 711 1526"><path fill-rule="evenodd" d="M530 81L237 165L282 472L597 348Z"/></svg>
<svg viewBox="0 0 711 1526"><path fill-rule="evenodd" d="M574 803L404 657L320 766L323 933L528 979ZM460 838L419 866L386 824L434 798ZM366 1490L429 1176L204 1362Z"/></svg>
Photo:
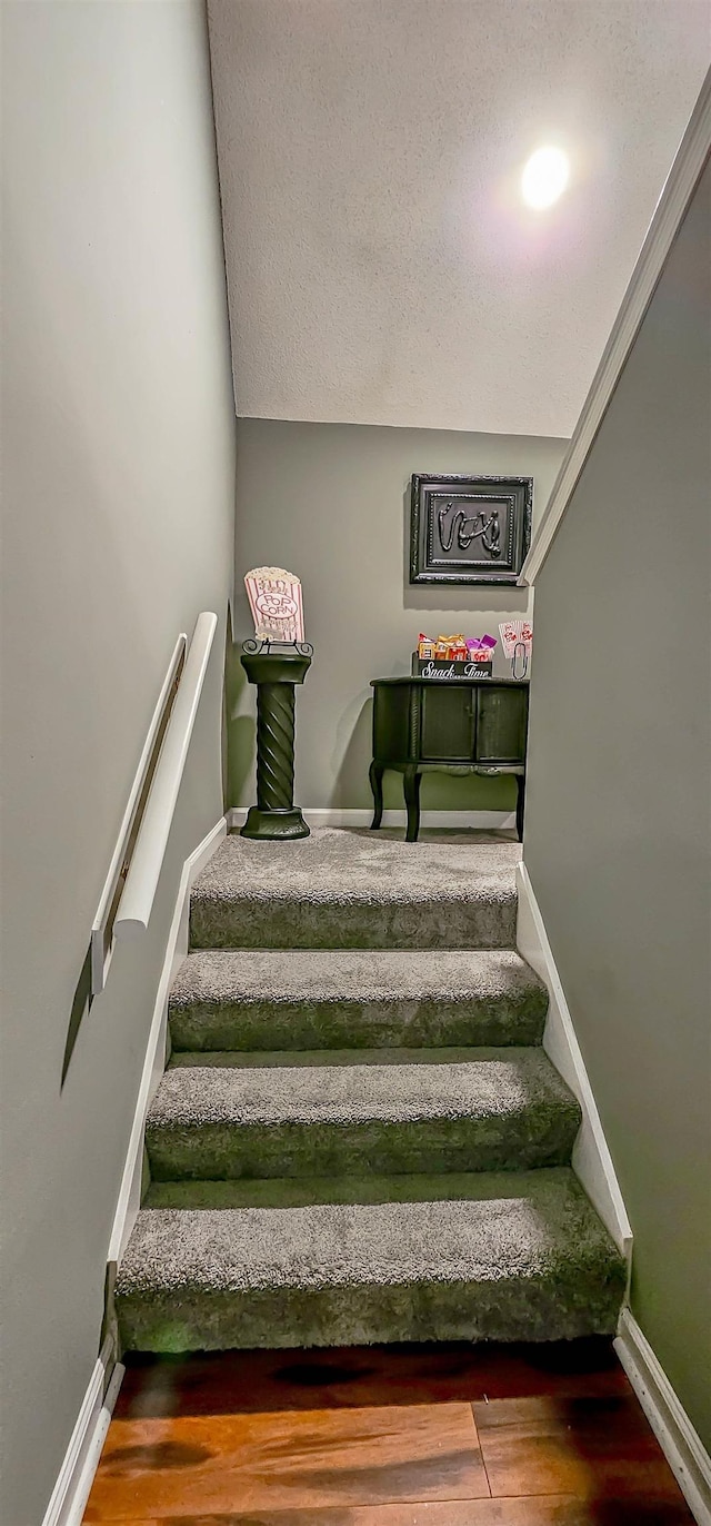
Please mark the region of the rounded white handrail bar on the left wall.
<svg viewBox="0 0 711 1526"><path fill-rule="evenodd" d="M114 926L121 940L143 932L150 922L215 629L217 615L203 610L197 618L119 902Z"/></svg>

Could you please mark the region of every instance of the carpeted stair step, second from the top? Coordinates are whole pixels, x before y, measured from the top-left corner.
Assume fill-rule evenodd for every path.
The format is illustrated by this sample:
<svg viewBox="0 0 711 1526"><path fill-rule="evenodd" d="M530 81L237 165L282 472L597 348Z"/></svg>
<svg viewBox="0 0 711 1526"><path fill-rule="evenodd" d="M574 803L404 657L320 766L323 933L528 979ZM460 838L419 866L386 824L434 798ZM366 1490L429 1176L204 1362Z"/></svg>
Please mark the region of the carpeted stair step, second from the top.
<svg viewBox="0 0 711 1526"><path fill-rule="evenodd" d="M172 986L174 1050L540 1044L548 992L513 949L217 949Z"/></svg>

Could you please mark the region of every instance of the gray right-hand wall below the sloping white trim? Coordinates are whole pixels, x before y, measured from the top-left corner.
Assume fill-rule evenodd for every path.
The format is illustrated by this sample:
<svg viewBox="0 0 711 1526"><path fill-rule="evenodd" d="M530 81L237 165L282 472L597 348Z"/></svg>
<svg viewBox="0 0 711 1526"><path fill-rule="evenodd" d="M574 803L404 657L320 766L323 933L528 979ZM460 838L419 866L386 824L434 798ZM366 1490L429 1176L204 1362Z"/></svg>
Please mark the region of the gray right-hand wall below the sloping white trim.
<svg viewBox="0 0 711 1526"><path fill-rule="evenodd" d="M525 861L635 1230L632 1308L711 1442L711 172L536 586Z"/></svg>

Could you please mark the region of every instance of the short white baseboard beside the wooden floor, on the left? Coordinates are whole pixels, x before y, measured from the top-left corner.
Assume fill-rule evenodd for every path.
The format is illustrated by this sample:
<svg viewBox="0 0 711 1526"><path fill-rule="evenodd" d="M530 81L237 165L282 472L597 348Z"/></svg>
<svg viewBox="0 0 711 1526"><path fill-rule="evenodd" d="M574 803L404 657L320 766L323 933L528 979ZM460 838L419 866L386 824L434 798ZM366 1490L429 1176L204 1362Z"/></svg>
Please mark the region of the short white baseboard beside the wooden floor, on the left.
<svg viewBox="0 0 711 1526"><path fill-rule="evenodd" d="M121 1361L116 1361L114 1341L107 1335L92 1372L60 1477L44 1512L43 1526L79 1526L124 1370Z"/></svg>

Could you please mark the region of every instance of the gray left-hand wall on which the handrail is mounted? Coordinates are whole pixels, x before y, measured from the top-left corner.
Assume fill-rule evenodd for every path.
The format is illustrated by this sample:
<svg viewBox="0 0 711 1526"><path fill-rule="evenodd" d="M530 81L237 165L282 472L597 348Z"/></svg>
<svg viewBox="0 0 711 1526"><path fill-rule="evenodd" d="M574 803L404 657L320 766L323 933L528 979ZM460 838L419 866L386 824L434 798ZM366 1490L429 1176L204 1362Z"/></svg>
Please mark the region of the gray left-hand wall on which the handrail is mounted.
<svg viewBox="0 0 711 1526"><path fill-rule="evenodd" d="M218 819L235 420L200 3L3 6L2 1360L6 1526L40 1526L102 1285L177 882ZM180 630L215 638L165 871L61 1085Z"/></svg>

